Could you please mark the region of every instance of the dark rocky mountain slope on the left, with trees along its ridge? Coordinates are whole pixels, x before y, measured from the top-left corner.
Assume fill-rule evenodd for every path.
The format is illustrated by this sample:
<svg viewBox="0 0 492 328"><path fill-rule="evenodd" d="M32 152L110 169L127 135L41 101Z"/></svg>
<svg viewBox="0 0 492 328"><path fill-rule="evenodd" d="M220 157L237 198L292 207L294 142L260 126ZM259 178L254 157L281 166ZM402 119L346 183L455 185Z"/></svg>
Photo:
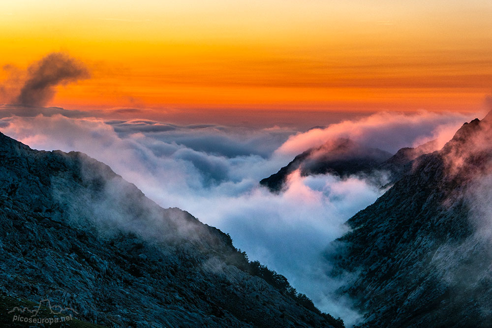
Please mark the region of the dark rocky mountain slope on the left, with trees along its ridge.
<svg viewBox="0 0 492 328"><path fill-rule="evenodd" d="M8 304L49 298L106 327L343 327L228 235L82 153L0 134L0 204Z"/></svg>

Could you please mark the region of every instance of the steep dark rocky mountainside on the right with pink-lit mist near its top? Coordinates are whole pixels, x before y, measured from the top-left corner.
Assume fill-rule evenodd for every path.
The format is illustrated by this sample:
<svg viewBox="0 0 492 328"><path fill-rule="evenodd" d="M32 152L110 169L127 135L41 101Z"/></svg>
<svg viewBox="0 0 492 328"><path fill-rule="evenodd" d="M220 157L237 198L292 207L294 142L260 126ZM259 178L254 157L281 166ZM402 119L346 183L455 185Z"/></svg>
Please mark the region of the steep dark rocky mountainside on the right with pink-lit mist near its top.
<svg viewBox="0 0 492 328"><path fill-rule="evenodd" d="M492 119L465 123L347 222L326 258L361 327L490 327Z"/></svg>

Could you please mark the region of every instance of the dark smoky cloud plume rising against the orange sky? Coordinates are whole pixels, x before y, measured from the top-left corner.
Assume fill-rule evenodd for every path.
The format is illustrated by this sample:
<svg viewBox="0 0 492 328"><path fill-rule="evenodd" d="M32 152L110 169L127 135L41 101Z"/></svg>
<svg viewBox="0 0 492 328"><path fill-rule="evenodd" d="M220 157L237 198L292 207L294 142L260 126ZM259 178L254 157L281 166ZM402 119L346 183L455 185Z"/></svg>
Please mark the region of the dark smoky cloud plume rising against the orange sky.
<svg viewBox="0 0 492 328"><path fill-rule="evenodd" d="M26 106L43 106L55 95L59 84L89 78L85 65L66 54L52 53L29 67L17 103Z"/></svg>

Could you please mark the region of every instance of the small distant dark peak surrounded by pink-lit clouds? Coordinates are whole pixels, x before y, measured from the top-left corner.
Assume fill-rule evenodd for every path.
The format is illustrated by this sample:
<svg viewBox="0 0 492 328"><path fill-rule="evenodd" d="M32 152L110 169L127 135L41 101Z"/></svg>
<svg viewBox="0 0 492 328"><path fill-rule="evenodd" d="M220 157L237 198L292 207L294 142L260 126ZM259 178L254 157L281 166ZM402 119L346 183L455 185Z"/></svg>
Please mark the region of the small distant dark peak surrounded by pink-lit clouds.
<svg viewBox="0 0 492 328"><path fill-rule="evenodd" d="M391 154L384 150L364 147L352 140L339 138L297 155L277 173L262 179L260 184L278 192L287 176L298 169L301 170L302 176L330 173L346 177L352 174L368 174L390 157Z"/></svg>

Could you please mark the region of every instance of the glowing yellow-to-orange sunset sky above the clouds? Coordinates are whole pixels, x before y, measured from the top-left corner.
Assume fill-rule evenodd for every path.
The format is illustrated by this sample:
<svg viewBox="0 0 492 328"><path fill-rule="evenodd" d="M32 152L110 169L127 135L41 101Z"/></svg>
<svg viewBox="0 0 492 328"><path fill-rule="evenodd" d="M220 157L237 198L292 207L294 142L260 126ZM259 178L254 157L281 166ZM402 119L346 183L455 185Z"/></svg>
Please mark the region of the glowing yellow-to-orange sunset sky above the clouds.
<svg viewBox="0 0 492 328"><path fill-rule="evenodd" d="M92 78L50 102L68 109L477 111L491 17L482 0L2 1L0 65L83 61Z"/></svg>

